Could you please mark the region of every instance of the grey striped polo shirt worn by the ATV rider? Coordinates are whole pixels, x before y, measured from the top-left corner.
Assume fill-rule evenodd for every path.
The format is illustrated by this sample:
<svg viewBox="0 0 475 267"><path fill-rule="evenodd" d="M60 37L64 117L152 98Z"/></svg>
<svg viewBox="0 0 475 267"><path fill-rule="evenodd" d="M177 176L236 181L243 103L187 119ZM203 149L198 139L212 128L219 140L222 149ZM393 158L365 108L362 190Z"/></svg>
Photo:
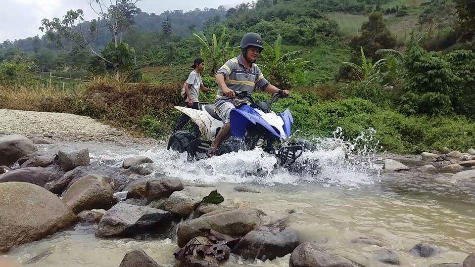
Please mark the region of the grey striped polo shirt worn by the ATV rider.
<svg viewBox="0 0 475 267"><path fill-rule="evenodd" d="M259 67L253 63L251 69L248 71L244 66L243 60L242 55L239 55L238 57L226 61L218 70L217 73L223 74L226 86L234 91L253 92L256 88L260 90L266 89L270 83L264 78ZM216 100L214 101L215 106L219 106L226 101L238 105L239 102L245 100L229 99L221 88L218 89Z"/></svg>

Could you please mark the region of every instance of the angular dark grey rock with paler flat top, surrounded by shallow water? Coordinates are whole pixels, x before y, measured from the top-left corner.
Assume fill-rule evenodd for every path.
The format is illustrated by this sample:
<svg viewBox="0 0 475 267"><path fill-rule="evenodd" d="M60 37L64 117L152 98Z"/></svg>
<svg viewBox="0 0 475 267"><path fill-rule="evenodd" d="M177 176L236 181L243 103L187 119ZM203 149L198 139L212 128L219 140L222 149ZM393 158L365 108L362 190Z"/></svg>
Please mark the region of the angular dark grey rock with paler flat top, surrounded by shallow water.
<svg viewBox="0 0 475 267"><path fill-rule="evenodd" d="M150 207L119 203L108 210L99 222L97 237L135 236L169 223L169 212Z"/></svg>

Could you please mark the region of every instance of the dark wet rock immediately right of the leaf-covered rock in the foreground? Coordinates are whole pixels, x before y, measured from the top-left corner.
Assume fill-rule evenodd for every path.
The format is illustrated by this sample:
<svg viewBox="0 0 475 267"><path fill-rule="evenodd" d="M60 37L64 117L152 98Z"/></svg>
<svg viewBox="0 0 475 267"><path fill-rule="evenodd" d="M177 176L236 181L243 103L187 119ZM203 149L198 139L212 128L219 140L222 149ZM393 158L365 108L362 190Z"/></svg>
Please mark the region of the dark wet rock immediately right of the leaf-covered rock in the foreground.
<svg viewBox="0 0 475 267"><path fill-rule="evenodd" d="M299 244L297 231L282 220L248 232L233 248L233 253L246 260L274 260L292 253Z"/></svg>

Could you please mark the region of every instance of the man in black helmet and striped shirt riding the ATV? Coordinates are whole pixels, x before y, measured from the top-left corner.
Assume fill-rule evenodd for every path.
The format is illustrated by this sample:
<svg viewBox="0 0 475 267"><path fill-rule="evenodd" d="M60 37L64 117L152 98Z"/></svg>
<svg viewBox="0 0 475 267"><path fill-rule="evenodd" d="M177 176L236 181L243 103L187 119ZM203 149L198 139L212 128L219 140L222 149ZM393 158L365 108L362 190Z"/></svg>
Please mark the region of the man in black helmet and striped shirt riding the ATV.
<svg viewBox="0 0 475 267"><path fill-rule="evenodd" d="M236 98L236 91L253 92L256 88L269 94L281 93L288 95L288 90L281 90L271 85L255 64L264 49L262 38L256 33L247 33L241 40L241 54L228 60L216 73L219 90L214 102L216 114L223 120L216 138L208 149L208 157L218 155L221 141L230 134L230 113L246 99Z"/></svg>

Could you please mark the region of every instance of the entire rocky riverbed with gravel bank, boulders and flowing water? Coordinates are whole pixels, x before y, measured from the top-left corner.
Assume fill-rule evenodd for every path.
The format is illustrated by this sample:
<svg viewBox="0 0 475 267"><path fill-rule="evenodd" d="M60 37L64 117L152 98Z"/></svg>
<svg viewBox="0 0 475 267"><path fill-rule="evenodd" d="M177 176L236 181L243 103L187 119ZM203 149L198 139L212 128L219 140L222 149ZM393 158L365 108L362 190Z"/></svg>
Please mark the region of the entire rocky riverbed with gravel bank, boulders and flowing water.
<svg viewBox="0 0 475 267"><path fill-rule="evenodd" d="M188 162L48 116L0 110L0 266L475 267L475 151L332 146L295 174L259 151Z"/></svg>

